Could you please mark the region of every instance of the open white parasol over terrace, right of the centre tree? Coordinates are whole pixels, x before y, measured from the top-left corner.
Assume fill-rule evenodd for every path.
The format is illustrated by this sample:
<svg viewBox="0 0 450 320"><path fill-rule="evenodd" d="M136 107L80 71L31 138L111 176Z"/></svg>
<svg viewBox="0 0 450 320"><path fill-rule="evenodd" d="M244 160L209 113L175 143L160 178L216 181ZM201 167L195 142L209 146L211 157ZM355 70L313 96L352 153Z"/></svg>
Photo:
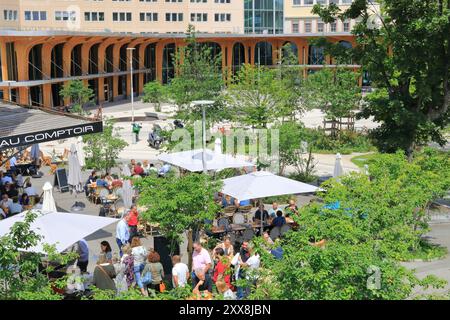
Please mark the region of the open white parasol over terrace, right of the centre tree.
<svg viewBox="0 0 450 320"><path fill-rule="evenodd" d="M239 201L322 190L316 186L277 176L267 171L257 171L228 178L223 180L223 183L222 192Z"/></svg>

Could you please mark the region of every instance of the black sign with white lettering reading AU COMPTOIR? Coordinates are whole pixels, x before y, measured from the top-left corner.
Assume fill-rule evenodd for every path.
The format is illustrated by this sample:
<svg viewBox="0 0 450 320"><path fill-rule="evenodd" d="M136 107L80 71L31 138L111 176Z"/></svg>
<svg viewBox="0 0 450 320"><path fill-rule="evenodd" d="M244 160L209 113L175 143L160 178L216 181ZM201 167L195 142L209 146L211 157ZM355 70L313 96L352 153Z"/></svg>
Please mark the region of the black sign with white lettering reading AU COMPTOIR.
<svg viewBox="0 0 450 320"><path fill-rule="evenodd" d="M76 126L57 128L45 131L37 131L25 133L9 137L0 138L0 150L7 148L16 148L35 143L67 139L71 137L82 136L90 133L103 131L103 123L101 121Z"/></svg>

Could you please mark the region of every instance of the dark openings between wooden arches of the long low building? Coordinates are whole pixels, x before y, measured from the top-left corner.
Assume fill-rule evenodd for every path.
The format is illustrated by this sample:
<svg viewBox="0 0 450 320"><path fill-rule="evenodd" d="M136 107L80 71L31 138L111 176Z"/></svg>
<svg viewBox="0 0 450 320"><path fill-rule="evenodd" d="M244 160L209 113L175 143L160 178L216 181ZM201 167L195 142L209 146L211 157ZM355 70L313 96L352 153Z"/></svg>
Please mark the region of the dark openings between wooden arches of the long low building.
<svg viewBox="0 0 450 320"><path fill-rule="evenodd" d="M348 41L341 41L342 46L345 48L351 47L351 43ZM290 44L291 52L297 58L299 50L295 43L293 42L285 42L284 45ZM114 72L126 72L129 69L129 61L127 61L127 48L130 43L124 43L120 45L120 48L116 48L116 44L112 43L103 48L104 54L100 55L100 45L101 43L95 43L89 47L88 52L83 52L84 43L77 44L73 46L70 52L70 61L64 60L64 45L65 43L58 43L51 49L50 55L50 71L49 74L44 74L42 72L43 59L48 59L48 57L42 56L43 44L37 44L31 48L29 51L28 57L28 78L29 80L45 80L45 79L56 79L56 78L67 78L67 77L77 77L89 74L102 74L102 73L114 73ZM228 55L231 54L231 71L232 73L236 73L239 71L242 64L246 62L252 61L256 65L264 65L264 66L272 66L275 62L274 48L273 45L268 41L260 41L257 42L253 49L253 57L251 57L252 51L250 47L247 47L242 42L235 42L232 47L230 47L230 51L228 52L228 48L225 49L225 52L222 52L222 47L217 42L203 42L202 45L208 46L211 50L212 58L217 57L218 55L225 55L225 59L227 59ZM285 55L283 45L283 51L281 53L282 56ZM141 46L145 46L145 48L141 48ZM143 81L139 81L140 75L135 73L133 75L134 81L134 94L137 95L139 92L142 92L142 86L145 83L153 81L156 79L157 75L157 43L150 44L137 44L134 46L135 50L133 50L133 68L137 69L146 69L143 73ZM118 50L117 50L118 49ZM142 50L141 50L142 49ZM174 55L176 53L176 43L167 43L163 47L162 51L162 61L159 66L162 71L162 82L167 83L171 78L175 75L174 68ZM248 52L246 52L248 50ZM303 49L304 50L304 49ZM118 56L115 56L115 52L118 53ZM87 53L87 54L86 54ZM143 57L140 57L140 54L143 53ZM303 53L306 54L305 52ZM86 60L87 59L87 60ZM103 59L103 61L99 61L99 59ZM307 49L307 60L305 64L308 65L322 65L325 63L325 55L324 50L321 47L317 46L308 46ZM143 65L141 65L143 64ZM103 67L101 67L103 66ZM127 75L119 75L117 79L116 76L108 76L102 79L99 82L98 78L89 79L87 83L89 87L91 87L95 93L95 102L99 102L99 91L102 90L101 97L106 101L113 101L117 96L126 96L127 94L127 86L129 85L129 81ZM59 91L63 85L63 82L52 83L51 84L51 101L52 104L62 105L63 101L61 101L61 97L59 95ZM115 89L115 90L114 90ZM31 104L39 105L43 101L43 88L42 86L34 86L30 87L30 100Z"/></svg>

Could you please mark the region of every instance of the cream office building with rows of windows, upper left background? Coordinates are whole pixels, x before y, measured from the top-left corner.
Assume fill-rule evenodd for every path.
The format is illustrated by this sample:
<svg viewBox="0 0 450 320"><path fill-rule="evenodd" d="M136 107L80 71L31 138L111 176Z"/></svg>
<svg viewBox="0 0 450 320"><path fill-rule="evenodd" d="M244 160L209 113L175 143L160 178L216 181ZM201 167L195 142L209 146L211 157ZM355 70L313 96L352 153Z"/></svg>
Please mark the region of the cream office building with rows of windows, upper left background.
<svg viewBox="0 0 450 320"><path fill-rule="evenodd" d="M282 1L282 0L277 0ZM243 0L1 0L0 29L243 33Z"/></svg>

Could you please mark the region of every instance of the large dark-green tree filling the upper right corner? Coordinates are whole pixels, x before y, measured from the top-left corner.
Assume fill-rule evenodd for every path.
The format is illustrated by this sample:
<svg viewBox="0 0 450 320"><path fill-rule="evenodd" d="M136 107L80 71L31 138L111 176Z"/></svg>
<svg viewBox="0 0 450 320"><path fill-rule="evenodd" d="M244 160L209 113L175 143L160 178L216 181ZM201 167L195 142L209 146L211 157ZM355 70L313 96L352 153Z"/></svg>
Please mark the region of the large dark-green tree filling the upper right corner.
<svg viewBox="0 0 450 320"><path fill-rule="evenodd" d="M316 5L325 23L358 19L352 33L356 46L347 50L321 39L334 56L351 56L368 71L378 88L367 97L359 116L381 123L372 136L381 151L444 144L441 129L449 124L450 1L355 0L345 11L335 4ZM378 22L377 22L378 21ZM342 52L345 51L345 52Z"/></svg>

